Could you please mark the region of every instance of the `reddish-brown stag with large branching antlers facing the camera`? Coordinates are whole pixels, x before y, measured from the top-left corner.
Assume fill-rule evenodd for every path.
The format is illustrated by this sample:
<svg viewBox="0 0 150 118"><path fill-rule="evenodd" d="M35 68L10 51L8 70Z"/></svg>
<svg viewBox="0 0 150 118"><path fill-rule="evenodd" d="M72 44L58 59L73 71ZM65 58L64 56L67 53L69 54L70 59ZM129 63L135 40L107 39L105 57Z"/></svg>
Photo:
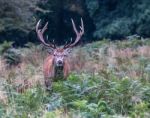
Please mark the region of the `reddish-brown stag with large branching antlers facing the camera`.
<svg viewBox="0 0 150 118"><path fill-rule="evenodd" d="M63 78L67 78L70 73L70 64L68 56L72 50L72 48L80 41L81 37L84 34L84 24L81 18L81 25L79 26L80 30L78 31L73 19L71 19L73 30L76 34L75 41L71 41L69 43L66 42L63 46L56 46L56 44L52 42L47 43L44 39L43 34L47 30L48 22L44 25L43 28L39 28L41 20L39 20L36 24L36 33L40 42L48 49L48 56L43 64L43 73L44 73L44 82L45 86L48 89L51 88L51 84L53 79L59 76L58 72L61 73Z"/></svg>

